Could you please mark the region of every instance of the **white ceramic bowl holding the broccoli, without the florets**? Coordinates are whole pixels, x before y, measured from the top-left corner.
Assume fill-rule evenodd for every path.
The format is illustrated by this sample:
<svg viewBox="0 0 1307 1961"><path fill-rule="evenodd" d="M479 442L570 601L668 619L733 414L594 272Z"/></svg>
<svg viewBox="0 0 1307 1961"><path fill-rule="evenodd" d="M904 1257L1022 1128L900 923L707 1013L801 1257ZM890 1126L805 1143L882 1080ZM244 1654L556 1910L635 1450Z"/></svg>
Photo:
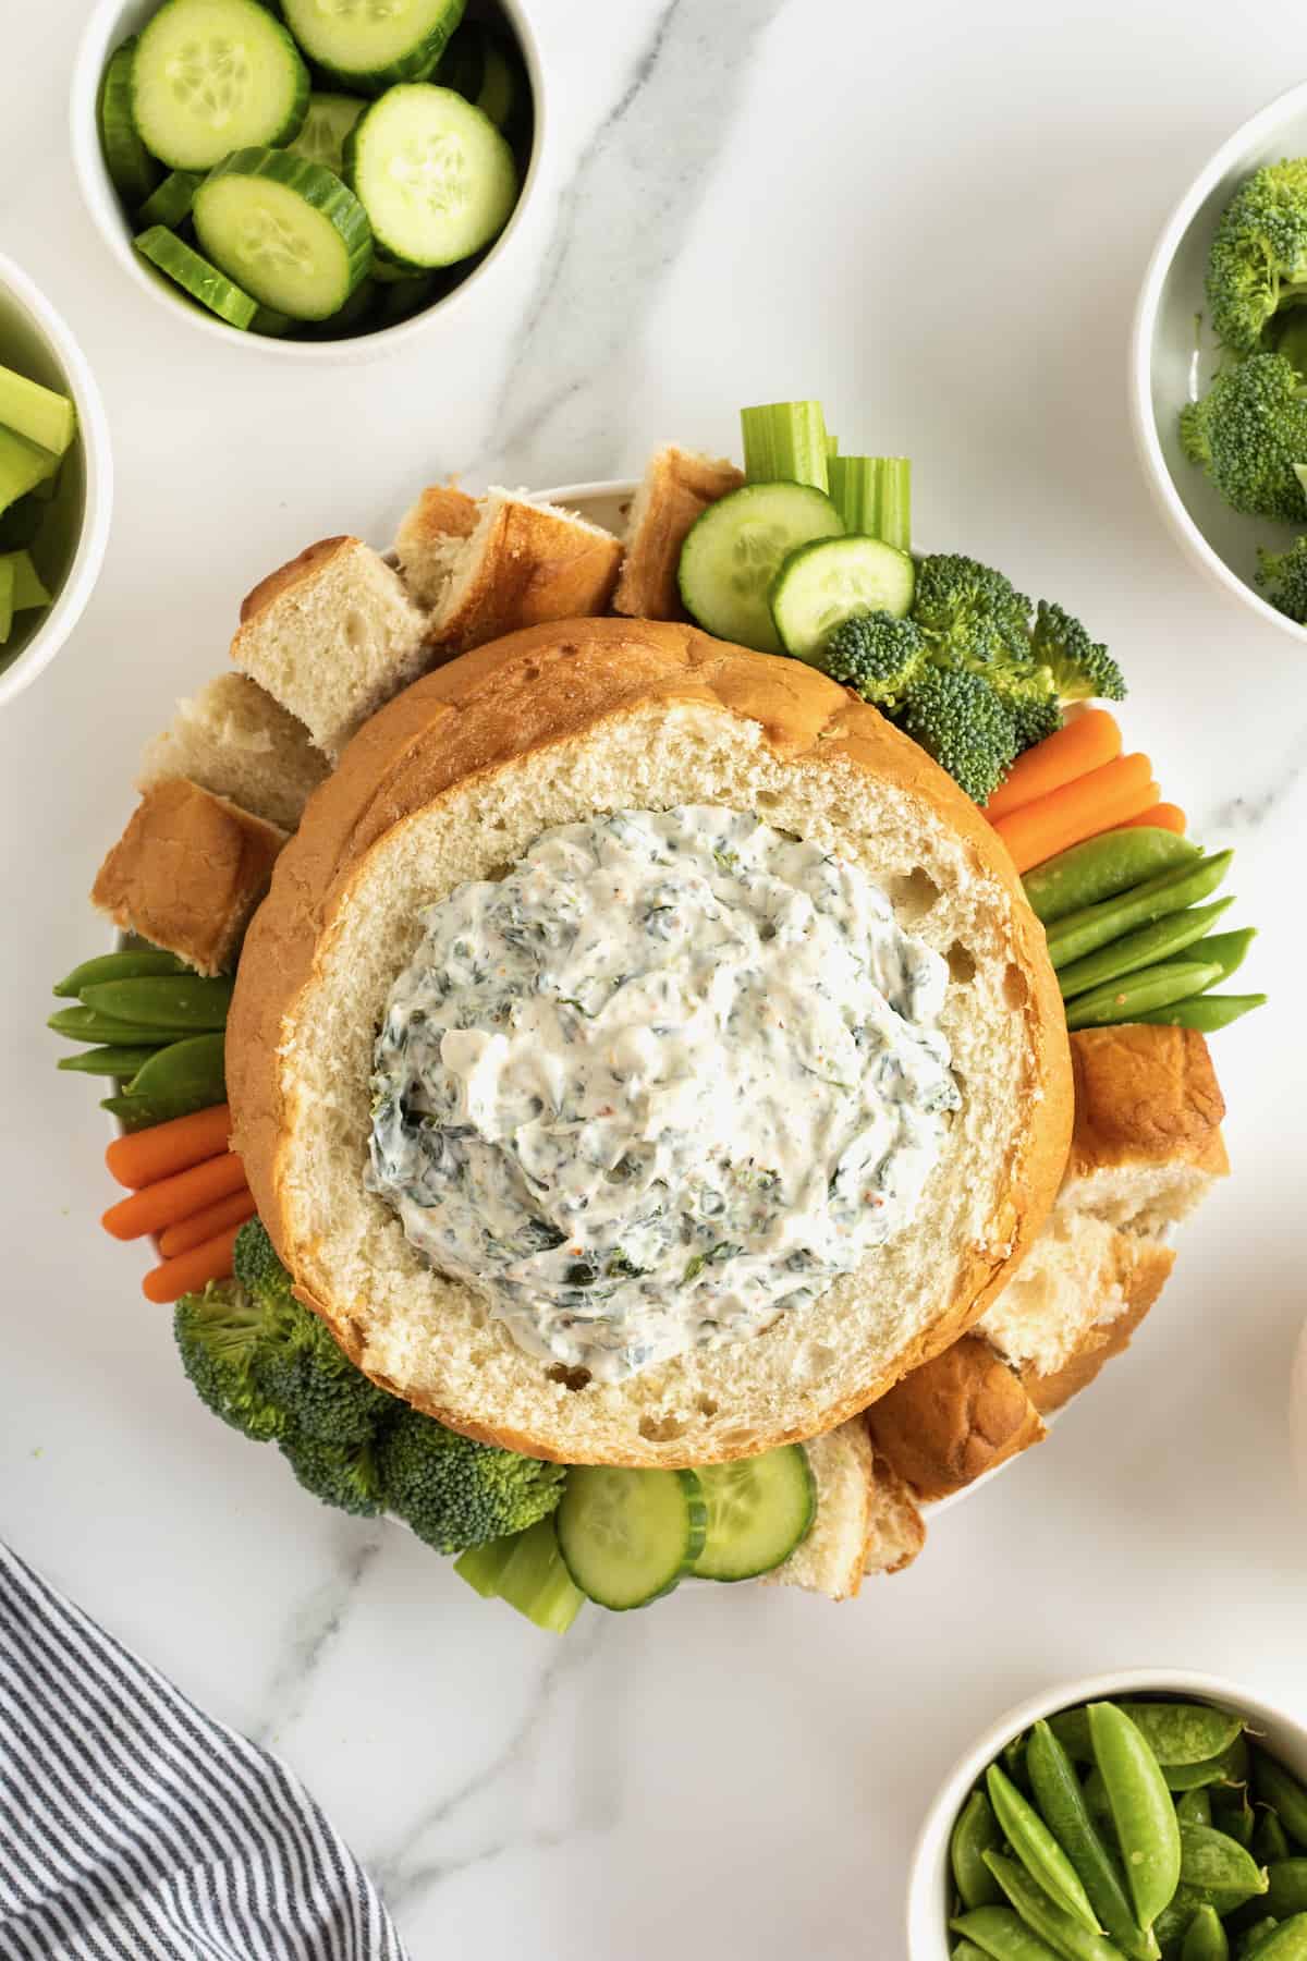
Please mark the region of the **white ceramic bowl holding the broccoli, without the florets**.
<svg viewBox="0 0 1307 1961"><path fill-rule="evenodd" d="M1307 628L1276 612L1252 582L1258 545L1283 547L1293 531L1229 510L1203 471L1184 455L1178 416L1186 402L1205 392L1215 369L1215 339L1209 327L1195 333L1195 316L1207 306L1203 284L1217 220L1244 178L1264 163L1305 155L1307 82L1301 82L1258 110L1221 145L1166 220L1144 275L1131 339L1131 420L1158 510L1195 565L1299 641L1307 641Z"/></svg>

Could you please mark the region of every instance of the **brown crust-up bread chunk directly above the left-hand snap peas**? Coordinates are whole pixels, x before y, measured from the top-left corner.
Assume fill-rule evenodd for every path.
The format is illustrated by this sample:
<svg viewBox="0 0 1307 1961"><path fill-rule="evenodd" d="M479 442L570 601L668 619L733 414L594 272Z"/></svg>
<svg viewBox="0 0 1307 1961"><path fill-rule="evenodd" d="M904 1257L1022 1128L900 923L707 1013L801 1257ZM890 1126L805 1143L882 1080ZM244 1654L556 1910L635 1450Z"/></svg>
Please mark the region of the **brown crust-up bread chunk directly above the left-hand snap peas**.
<svg viewBox="0 0 1307 1961"><path fill-rule="evenodd" d="M286 833L196 782L147 790L106 857L92 904L202 975L235 967Z"/></svg>

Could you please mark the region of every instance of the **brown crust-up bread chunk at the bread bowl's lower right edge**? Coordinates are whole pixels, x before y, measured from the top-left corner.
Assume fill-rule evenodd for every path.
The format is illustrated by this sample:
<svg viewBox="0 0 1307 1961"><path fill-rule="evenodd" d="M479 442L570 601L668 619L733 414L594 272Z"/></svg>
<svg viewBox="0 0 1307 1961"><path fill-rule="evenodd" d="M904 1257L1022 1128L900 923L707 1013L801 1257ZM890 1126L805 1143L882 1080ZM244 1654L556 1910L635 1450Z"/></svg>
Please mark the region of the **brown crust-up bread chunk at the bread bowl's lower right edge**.
<svg viewBox="0 0 1307 1961"><path fill-rule="evenodd" d="M982 1335L962 1335L913 1371L866 1422L919 1498L948 1498L1046 1433L1021 1377Z"/></svg>

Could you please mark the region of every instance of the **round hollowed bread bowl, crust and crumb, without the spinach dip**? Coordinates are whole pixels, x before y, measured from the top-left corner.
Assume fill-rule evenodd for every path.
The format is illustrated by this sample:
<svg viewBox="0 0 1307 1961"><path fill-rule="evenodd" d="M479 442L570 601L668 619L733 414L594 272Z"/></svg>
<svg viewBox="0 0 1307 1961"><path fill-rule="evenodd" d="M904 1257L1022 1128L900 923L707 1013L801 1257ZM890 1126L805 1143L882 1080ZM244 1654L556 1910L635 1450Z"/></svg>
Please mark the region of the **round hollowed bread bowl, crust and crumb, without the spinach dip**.
<svg viewBox="0 0 1307 1961"><path fill-rule="evenodd" d="M423 906L553 826L676 804L756 810L888 890L948 959L962 1108L913 1222L856 1273L764 1333L609 1384L527 1355L364 1190L372 1043ZM247 935L227 1082L259 1212L349 1357L455 1430L564 1463L715 1463L854 1416L1007 1282L1072 1122L1042 930L974 804L815 669L645 620L511 633L355 735Z"/></svg>

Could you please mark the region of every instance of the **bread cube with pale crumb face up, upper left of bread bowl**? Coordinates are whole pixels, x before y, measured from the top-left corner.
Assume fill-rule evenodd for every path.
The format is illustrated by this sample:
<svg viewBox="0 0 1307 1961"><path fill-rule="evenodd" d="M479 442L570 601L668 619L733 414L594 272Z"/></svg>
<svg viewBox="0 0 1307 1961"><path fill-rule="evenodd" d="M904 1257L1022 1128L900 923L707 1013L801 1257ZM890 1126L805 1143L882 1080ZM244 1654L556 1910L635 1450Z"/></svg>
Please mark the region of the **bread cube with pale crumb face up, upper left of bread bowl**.
<svg viewBox="0 0 1307 1961"><path fill-rule="evenodd" d="M425 631L425 614L380 553L359 537L323 537L255 586L231 659L335 761L429 665Z"/></svg>

